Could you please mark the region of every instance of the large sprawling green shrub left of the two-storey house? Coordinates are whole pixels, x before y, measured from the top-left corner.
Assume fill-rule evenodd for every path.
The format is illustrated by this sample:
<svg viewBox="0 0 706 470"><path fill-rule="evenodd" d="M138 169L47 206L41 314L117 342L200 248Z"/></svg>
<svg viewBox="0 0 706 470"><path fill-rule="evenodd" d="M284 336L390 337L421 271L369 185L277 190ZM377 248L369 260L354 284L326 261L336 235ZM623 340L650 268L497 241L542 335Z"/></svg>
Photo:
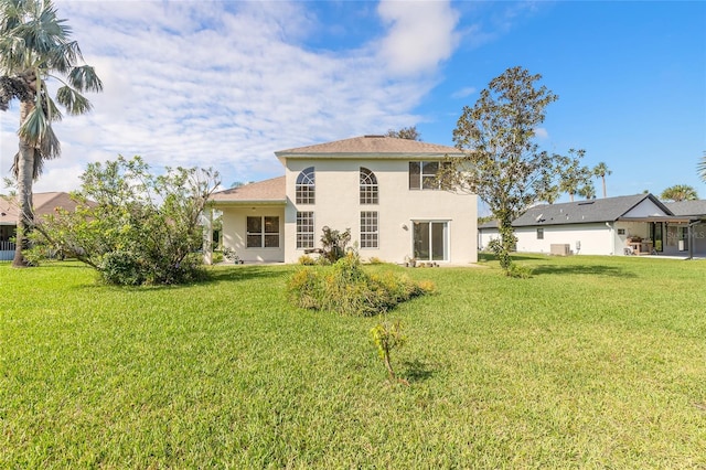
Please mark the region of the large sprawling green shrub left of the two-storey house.
<svg viewBox="0 0 706 470"><path fill-rule="evenodd" d="M74 256L109 284L182 284L202 277L200 224L217 185L212 170L167 168L153 175L141 158L90 163L73 193L75 211L57 210L34 243ZM39 249L39 248L38 248Z"/></svg>

